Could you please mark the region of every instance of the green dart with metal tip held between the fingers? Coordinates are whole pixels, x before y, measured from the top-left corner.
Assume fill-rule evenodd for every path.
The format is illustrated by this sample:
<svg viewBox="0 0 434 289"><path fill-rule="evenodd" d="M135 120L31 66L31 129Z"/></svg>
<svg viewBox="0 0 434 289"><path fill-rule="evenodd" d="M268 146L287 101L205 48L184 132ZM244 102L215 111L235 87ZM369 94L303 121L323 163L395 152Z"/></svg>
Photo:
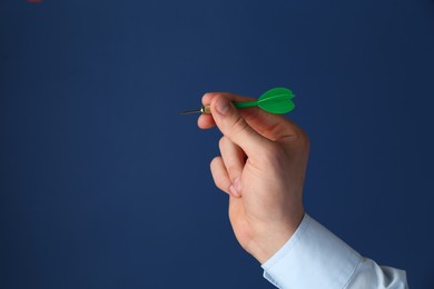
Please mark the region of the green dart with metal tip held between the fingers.
<svg viewBox="0 0 434 289"><path fill-rule="evenodd" d="M267 112L283 114L292 111L295 108L295 104L292 101L293 98L294 93L289 89L274 88L266 91L255 101L234 102L234 106L238 109L259 107ZM211 110L209 106L204 106L197 110L186 110L180 111L179 113L211 113Z"/></svg>

